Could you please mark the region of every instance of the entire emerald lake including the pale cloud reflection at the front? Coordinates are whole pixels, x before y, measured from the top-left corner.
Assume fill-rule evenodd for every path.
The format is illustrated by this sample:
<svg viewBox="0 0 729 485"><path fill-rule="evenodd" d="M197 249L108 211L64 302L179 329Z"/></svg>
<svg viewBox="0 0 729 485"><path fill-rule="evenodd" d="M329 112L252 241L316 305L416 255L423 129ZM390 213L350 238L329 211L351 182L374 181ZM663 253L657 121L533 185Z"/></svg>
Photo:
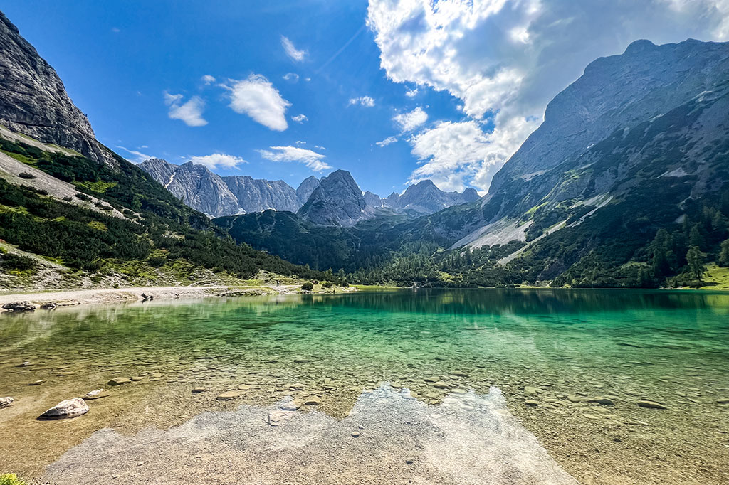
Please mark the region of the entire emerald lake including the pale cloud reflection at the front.
<svg viewBox="0 0 729 485"><path fill-rule="evenodd" d="M723 484L728 369L725 293L420 289L4 313L0 396L15 403L0 409L0 473ZM134 379L109 387L117 377ZM82 417L35 419L100 388Z"/></svg>

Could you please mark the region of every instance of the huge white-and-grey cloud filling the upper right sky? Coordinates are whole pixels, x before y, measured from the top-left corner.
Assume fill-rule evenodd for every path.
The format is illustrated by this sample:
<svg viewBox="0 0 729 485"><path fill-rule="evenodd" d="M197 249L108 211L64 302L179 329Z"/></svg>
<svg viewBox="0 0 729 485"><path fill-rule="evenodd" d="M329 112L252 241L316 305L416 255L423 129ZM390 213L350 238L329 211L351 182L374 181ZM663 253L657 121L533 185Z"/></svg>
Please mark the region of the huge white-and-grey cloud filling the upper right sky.
<svg viewBox="0 0 729 485"><path fill-rule="evenodd" d="M729 39L729 0L370 0L367 25L389 79L449 92L470 119L495 116L475 139L502 165L592 60L636 39Z"/></svg>

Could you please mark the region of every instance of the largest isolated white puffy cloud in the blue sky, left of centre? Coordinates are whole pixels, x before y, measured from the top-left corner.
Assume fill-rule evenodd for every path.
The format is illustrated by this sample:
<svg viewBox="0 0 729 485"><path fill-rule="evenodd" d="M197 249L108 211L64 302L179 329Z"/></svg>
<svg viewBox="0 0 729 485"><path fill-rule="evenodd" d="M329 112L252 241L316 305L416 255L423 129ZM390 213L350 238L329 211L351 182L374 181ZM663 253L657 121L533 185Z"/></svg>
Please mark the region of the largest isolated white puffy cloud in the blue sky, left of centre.
<svg viewBox="0 0 729 485"><path fill-rule="evenodd" d="M251 74L248 79L230 80L226 86L230 94L230 109L236 113L247 114L255 122L270 128L284 131L289 127L286 123L286 109L289 101L281 98L276 87L260 74Z"/></svg>

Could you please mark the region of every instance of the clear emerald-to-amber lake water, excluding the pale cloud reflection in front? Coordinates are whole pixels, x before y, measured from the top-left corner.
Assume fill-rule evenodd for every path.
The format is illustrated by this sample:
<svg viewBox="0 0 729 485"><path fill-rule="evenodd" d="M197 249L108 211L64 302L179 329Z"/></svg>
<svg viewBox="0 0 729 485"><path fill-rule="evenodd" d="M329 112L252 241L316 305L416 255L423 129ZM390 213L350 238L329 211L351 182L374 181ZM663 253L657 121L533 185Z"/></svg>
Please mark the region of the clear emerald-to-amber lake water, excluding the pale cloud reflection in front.
<svg viewBox="0 0 729 485"><path fill-rule="evenodd" d="M430 406L494 385L584 483L729 483L729 405L717 402L729 398L728 369L729 295L716 293L361 291L3 314L0 395L16 403L0 411L0 433L37 439L0 452L38 473L104 426L165 427L285 395L316 396L317 409L345 417L383 382ZM85 417L33 420L117 376L142 379L92 401ZM46 382L28 385L36 379ZM238 385L250 388L216 401ZM585 402L597 396L615 404Z"/></svg>

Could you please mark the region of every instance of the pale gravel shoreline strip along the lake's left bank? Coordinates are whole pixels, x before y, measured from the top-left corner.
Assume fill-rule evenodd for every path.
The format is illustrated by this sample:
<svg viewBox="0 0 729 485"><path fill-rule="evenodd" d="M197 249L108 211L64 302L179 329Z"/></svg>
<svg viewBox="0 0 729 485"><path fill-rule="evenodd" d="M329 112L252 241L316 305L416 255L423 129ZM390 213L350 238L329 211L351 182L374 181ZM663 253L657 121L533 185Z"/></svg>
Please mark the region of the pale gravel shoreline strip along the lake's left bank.
<svg viewBox="0 0 729 485"><path fill-rule="evenodd" d="M52 301L59 307L141 301L142 293L158 299L203 298L206 296L256 296L299 292L298 285L260 286L140 286L134 288L99 288L93 290L39 291L0 294L0 307L12 301L30 301L36 306ZM0 310L5 311L5 310Z"/></svg>

